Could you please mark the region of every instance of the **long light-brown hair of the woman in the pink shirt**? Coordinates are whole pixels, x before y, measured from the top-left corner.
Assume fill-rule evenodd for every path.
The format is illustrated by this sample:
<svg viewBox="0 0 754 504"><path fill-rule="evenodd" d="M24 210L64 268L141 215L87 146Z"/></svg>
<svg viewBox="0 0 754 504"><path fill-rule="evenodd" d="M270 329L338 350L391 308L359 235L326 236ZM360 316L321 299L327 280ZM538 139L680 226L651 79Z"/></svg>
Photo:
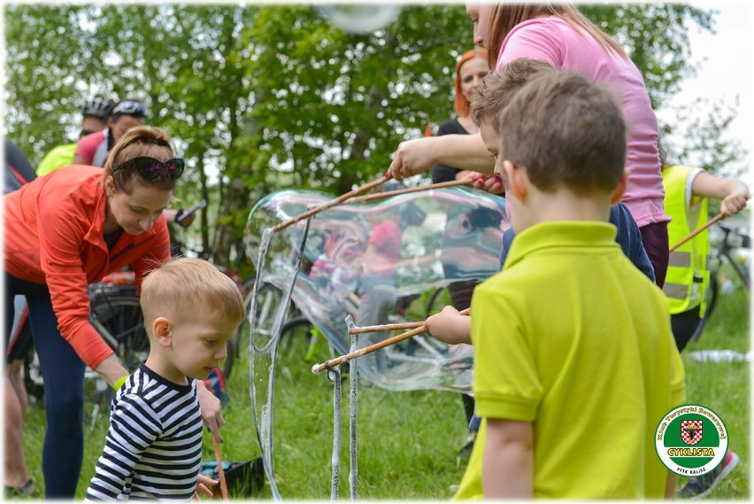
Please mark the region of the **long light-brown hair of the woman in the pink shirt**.
<svg viewBox="0 0 754 504"><path fill-rule="evenodd" d="M608 54L614 52L622 58L628 58L617 42L596 27L578 9L571 4L558 2L545 2L542 4L496 4L489 16L489 54L487 61L490 68L495 68L500 48L503 46L505 37L511 33L513 27L529 19L541 16L557 16L563 19L581 35L591 36L596 43Z"/></svg>

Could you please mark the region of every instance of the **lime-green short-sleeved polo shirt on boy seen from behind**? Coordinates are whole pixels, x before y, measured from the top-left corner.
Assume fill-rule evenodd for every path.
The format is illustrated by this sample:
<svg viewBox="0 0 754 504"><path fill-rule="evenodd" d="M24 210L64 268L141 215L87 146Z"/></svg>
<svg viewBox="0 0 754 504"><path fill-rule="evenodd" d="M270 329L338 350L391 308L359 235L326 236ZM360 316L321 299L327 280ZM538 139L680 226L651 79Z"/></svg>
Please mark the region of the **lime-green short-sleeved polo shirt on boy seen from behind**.
<svg viewBox="0 0 754 504"><path fill-rule="evenodd" d="M457 499L482 498L487 418L533 424L535 498L664 495L654 433L685 399L683 366L662 291L615 235L596 221L537 224L474 291L482 423Z"/></svg>

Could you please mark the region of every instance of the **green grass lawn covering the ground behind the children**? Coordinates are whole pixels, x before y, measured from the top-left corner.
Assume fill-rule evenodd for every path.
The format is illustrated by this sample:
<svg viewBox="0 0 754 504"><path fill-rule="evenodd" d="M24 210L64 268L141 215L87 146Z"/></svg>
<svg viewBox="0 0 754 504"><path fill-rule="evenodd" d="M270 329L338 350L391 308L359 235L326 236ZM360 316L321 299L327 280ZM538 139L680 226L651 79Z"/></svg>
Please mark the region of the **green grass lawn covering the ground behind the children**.
<svg viewBox="0 0 754 504"><path fill-rule="evenodd" d="M684 351L689 402L712 408L726 423L731 449L741 463L710 499L750 498L750 364L699 362L690 353L705 349L750 350L750 296L739 288L719 299L707 329ZM324 375L314 376L310 362L279 363L274 411L275 475L284 499L327 500L333 446L333 389ZM229 380L230 403L224 412L223 458L245 461L259 454L250 410L248 370L236 368ZM348 382L343 384L341 498L348 489ZM104 444L106 416L87 431L77 498L83 498ZM42 407L30 408L25 428L27 465L43 486ZM458 484L465 462L457 458L468 431L458 394L386 392L361 386L358 395L358 496L361 499L446 500ZM204 435L205 461L213 461L212 439ZM271 498L269 486L253 496Z"/></svg>

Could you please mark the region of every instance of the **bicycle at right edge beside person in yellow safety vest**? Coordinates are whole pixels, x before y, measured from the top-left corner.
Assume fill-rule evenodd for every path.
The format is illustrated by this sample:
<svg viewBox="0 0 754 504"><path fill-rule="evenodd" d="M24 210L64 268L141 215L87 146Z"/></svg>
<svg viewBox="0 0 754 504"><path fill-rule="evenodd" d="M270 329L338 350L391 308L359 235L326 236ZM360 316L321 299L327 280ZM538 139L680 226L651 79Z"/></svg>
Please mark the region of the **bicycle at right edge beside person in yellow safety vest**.
<svg viewBox="0 0 754 504"><path fill-rule="evenodd" d="M727 268L733 270L735 275L741 281L743 286L750 290L750 272L749 267L744 264L738 257L734 257L735 251L739 249L750 249L751 239L748 234L731 227L724 222L718 222L716 226L722 231L717 247L711 248L708 265L710 270L710 285L705 292L707 309L704 317L696 327L691 341L696 341L702 336L704 327L709 322L715 306L717 306L719 291L721 290L719 275L722 273L723 264L727 262Z"/></svg>

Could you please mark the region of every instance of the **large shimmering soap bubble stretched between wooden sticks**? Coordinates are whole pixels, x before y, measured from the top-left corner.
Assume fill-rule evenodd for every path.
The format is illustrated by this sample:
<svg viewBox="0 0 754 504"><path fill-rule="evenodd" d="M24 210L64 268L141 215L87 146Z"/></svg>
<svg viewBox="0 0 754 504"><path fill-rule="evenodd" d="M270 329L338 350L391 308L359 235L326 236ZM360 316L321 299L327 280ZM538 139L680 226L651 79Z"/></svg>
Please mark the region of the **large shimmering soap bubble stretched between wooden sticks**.
<svg viewBox="0 0 754 504"><path fill-rule="evenodd" d="M258 260L265 229L330 199L316 191L283 190L259 201L247 221L250 257ZM259 275L280 292L288 291L296 274L304 226L301 221L274 233L265 252ZM450 283L481 281L498 271L508 227L503 198L466 188L335 206L311 221L292 302L335 353L348 353L347 315L358 326L423 321L450 304ZM361 335L358 346L395 334ZM470 392L472 364L469 345L445 345L424 335L361 357L358 370L367 382L389 390ZM302 358L301 365L311 362Z"/></svg>

